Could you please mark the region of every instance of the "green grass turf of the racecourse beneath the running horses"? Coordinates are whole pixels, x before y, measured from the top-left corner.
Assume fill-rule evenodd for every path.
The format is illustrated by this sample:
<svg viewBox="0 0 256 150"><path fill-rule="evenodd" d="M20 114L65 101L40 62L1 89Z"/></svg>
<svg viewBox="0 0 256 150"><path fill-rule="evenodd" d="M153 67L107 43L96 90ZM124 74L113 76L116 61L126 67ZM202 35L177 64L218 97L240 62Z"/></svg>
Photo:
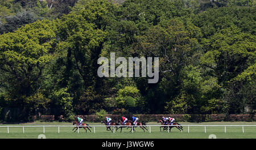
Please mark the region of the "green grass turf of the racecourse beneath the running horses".
<svg viewBox="0 0 256 150"><path fill-rule="evenodd" d="M86 122L87 123L87 122ZM89 122L89 125L102 125L101 123ZM160 125L158 123L149 122L147 125ZM204 123L189 123L180 122L181 125L256 125L256 122L204 122ZM59 122L34 122L17 124L15 126L24 125L72 125L72 123L59 123ZM9 126L7 124L0 126ZM10 126L14 126L11 124ZM147 127L149 130L149 127ZM130 128L127 130L123 128L112 133L106 131L106 127L96 127L95 133L93 127L85 132L83 128L79 129L79 133L72 131L73 127L60 127L60 133L58 133L58 127L45 127L45 133L47 139L208 139L209 135L216 135L217 139L256 139L256 126L245 126L244 132L242 127L226 127L226 133L224 127L206 127L206 133L204 126L189 126L183 127L183 132L172 128L171 132L160 131L158 126L151 127L151 133L149 131L143 132L139 127L135 128L134 132L130 132ZM9 134L7 133L7 127L0 127L0 139L36 139L40 134L43 134L43 127L24 127L24 133L22 127L9 127Z"/></svg>

